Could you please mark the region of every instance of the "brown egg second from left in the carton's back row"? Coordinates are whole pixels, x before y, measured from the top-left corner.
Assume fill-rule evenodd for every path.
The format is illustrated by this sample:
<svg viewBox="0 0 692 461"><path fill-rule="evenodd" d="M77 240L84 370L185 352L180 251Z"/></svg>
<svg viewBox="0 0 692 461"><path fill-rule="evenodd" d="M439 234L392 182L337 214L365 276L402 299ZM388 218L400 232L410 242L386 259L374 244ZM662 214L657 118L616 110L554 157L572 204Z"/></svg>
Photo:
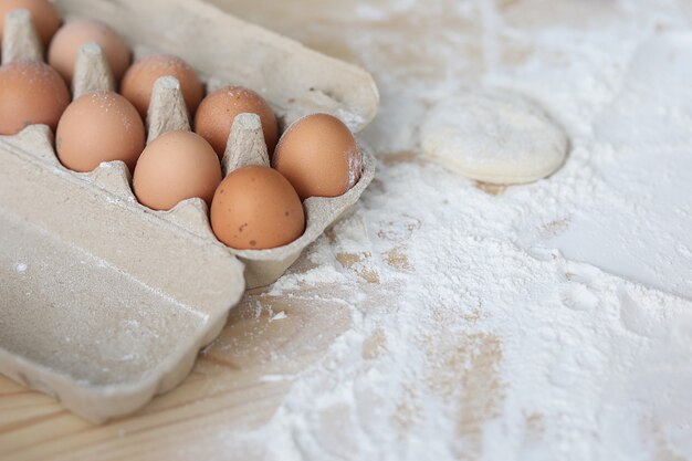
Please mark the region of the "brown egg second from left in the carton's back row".
<svg viewBox="0 0 692 461"><path fill-rule="evenodd" d="M74 21L63 25L51 42L48 62L67 83L72 83L80 48L88 42L101 46L115 80L119 82L129 65L129 48L122 35L103 22Z"/></svg>

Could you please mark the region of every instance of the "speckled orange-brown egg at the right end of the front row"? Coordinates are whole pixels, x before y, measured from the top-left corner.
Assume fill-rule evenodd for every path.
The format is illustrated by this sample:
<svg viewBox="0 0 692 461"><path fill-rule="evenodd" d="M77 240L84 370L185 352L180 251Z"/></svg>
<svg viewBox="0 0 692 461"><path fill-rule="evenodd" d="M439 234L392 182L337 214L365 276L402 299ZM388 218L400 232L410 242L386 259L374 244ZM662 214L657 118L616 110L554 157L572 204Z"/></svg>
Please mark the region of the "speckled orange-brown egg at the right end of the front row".
<svg viewBox="0 0 692 461"><path fill-rule="evenodd" d="M291 243L305 231L303 203L291 184L269 167L231 172L211 202L217 238L238 250L263 250Z"/></svg>

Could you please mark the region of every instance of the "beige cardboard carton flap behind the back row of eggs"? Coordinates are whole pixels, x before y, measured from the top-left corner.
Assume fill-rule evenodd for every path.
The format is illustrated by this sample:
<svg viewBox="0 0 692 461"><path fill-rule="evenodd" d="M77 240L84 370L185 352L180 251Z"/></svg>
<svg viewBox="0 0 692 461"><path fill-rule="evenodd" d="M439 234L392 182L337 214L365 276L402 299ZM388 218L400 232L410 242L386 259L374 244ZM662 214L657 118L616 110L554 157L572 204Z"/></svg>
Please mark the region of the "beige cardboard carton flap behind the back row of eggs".
<svg viewBox="0 0 692 461"><path fill-rule="evenodd" d="M363 69L234 18L200 0L57 0L69 21L91 18L129 40L135 54L175 53L209 90L226 84L260 93L284 126L314 113L340 118L354 133L377 115L379 93Z"/></svg>

